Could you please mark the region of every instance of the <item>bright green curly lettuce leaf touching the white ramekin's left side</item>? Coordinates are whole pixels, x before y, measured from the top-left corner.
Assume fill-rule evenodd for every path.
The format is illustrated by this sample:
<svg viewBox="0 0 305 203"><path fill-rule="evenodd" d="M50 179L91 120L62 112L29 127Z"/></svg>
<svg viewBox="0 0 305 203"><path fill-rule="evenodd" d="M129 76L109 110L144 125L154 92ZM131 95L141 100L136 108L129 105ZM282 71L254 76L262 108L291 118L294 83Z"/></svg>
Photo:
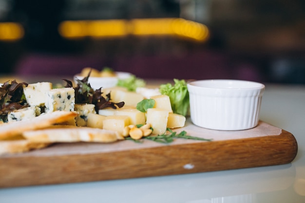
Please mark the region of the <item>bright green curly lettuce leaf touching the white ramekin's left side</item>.
<svg viewBox="0 0 305 203"><path fill-rule="evenodd" d="M172 111L186 116L190 109L190 95L185 80L173 79L171 83L160 85L161 94L168 95L171 100Z"/></svg>

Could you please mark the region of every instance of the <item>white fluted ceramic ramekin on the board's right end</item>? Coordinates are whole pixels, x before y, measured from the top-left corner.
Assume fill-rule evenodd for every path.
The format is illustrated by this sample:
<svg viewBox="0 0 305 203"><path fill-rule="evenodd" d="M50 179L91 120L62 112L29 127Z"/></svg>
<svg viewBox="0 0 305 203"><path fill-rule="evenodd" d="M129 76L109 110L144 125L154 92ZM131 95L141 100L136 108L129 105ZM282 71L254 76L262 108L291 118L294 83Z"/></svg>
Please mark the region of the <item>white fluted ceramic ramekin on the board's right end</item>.
<svg viewBox="0 0 305 203"><path fill-rule="evenodd" d="M191 121L216 130L257 126L265 85L243 80L197 80L187 84Z"/></svg>

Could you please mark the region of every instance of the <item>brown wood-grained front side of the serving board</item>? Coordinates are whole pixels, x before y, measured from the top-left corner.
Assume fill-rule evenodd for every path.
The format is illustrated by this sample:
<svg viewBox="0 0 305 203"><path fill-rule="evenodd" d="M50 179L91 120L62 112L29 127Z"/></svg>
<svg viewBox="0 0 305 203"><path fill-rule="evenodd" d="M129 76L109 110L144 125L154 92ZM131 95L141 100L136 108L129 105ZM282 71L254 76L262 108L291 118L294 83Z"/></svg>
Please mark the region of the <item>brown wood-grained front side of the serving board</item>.
<svg viewBox="0 0 305 203"><path fill-rule="evenodd" d="M294 136L165 145L105 153L0 157L0 187L50 185L197 173L290 163Z"/></svg>

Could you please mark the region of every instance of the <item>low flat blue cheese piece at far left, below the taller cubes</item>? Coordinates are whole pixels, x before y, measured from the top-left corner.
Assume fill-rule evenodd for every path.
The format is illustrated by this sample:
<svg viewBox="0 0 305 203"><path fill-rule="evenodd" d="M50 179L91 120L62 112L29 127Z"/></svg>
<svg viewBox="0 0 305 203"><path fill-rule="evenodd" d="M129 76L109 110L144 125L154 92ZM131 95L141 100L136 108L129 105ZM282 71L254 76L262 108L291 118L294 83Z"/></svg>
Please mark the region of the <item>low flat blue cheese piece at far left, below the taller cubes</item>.
<svg viewBox="0 0 305 203"><path fill-rule="evenodd" d="M37 106L27 107L15 111L11 111L7 114L8 122L21 121L27 118L33 118L40 115L40 108Z"/></svg>

